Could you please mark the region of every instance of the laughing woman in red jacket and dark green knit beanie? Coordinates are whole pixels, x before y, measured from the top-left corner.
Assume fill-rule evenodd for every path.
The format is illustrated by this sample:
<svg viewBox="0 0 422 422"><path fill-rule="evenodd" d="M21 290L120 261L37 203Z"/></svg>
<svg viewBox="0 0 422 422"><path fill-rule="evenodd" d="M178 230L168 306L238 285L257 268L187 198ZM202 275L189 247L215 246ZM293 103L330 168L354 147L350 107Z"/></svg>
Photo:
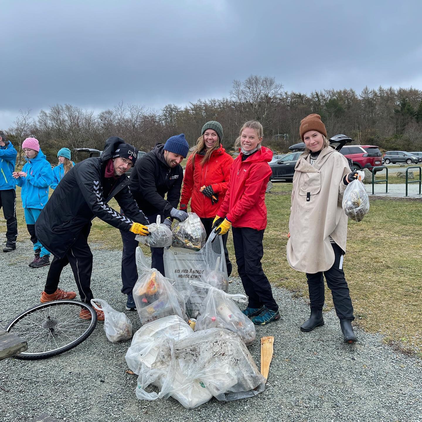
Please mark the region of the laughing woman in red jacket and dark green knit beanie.
<svg viewBox="0 0 422 422"><path fill-rule="evenodd" d="M224 200L230 179L233 157L221 145L223 128L219 122L206 122L197 140L195 151L189 156L183 177L180 209L186 211L190 202L192 212L200 217L207 238L212 231L214 216ZM223 235L227 274L232 264L227 252L227 235Z"/></svg>

